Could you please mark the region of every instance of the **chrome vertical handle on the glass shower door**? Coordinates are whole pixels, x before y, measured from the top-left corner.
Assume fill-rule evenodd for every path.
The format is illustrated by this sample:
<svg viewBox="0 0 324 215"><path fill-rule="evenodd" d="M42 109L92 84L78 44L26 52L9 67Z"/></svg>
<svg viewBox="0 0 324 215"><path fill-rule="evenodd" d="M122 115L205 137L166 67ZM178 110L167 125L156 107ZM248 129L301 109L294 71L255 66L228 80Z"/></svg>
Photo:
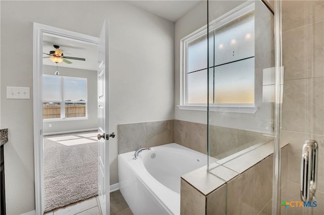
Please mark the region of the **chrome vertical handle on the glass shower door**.
<svg viewBox="0 0 324 215"><path fill-rule="evenodd" d="M306 140L302 149L300 170L300 194L303 201L315 198L317 180L318 147L314 140Z"/></svg>

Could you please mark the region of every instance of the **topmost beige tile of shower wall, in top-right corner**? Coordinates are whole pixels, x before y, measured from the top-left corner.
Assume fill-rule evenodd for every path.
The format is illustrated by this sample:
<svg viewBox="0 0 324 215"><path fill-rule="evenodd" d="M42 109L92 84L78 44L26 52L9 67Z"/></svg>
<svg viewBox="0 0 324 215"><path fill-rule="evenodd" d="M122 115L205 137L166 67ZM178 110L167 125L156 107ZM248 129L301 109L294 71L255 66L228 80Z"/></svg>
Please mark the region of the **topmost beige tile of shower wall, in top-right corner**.
<svg viewBox="0 0 324 215"><path fill-rule="evenodd" d="M323 1L282 1L283 32L323 18Z"/></svg>

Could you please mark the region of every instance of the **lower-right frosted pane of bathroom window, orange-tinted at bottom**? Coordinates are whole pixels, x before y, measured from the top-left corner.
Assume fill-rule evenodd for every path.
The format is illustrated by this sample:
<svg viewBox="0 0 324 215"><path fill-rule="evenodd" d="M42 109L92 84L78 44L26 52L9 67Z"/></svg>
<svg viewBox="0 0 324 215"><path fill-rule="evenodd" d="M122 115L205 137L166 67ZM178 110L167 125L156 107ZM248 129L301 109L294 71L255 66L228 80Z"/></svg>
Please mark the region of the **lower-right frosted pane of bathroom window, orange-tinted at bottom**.
<svg viewBox="0 0 324 215"><path fill-rule="evenodd" d="M254 58L215 67L215 103L254 103Z"/></svg>

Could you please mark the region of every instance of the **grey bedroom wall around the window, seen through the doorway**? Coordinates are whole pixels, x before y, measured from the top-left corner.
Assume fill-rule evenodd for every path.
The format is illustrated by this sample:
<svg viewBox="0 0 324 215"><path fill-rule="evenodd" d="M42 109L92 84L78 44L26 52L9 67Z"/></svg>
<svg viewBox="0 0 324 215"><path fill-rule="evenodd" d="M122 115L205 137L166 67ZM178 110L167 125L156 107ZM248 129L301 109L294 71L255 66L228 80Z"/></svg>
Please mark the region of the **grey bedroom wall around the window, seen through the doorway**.
<svg viewBox="0 0 324 215"><path fill-rule="evenodd" d="M43 65L43 74L53 75L56 66ZM87 78L88 83L88 119L73 121L43 122L43 131L46 133L69 132L97 128L97 71L59 67L60 76ZM49 124L52 127L49 127Z"/></svg>

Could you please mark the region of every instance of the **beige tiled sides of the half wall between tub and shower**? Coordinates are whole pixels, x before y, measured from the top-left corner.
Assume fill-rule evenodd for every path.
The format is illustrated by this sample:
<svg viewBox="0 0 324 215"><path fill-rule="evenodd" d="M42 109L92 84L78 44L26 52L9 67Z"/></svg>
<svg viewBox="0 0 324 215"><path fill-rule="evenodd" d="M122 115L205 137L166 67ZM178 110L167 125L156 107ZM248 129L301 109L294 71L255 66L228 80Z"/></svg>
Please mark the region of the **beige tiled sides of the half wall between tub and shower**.
<svg viewBox="0 0 324 215"><path fill-rule="evenodd" d="M287 181L288 177L288 163L286 163L288 151L289 145L281 149L281 158L285 162L281 168L282 181ZM271 214L272 173L271 154L248 170L236 173L234 178L226 180L226 177L222 177L226 180L224 184L207 194L181 179L180 213Z"/></svg>

